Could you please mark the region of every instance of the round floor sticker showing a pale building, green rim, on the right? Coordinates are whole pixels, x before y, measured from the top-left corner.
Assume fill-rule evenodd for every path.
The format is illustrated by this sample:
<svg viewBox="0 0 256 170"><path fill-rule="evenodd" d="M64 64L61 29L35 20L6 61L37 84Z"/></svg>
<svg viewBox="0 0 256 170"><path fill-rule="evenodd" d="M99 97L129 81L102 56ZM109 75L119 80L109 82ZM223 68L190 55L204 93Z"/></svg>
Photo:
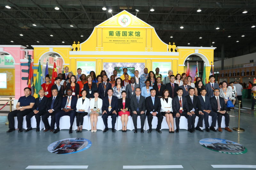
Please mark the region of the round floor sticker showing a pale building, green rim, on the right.
<svg viewBox="0 0 256 170"><path fill-rule="evenodd" d="M247 152L243 145L226 139L205 138L201 139L199 143L207 149L220 153L237 155Z"/></svg>

